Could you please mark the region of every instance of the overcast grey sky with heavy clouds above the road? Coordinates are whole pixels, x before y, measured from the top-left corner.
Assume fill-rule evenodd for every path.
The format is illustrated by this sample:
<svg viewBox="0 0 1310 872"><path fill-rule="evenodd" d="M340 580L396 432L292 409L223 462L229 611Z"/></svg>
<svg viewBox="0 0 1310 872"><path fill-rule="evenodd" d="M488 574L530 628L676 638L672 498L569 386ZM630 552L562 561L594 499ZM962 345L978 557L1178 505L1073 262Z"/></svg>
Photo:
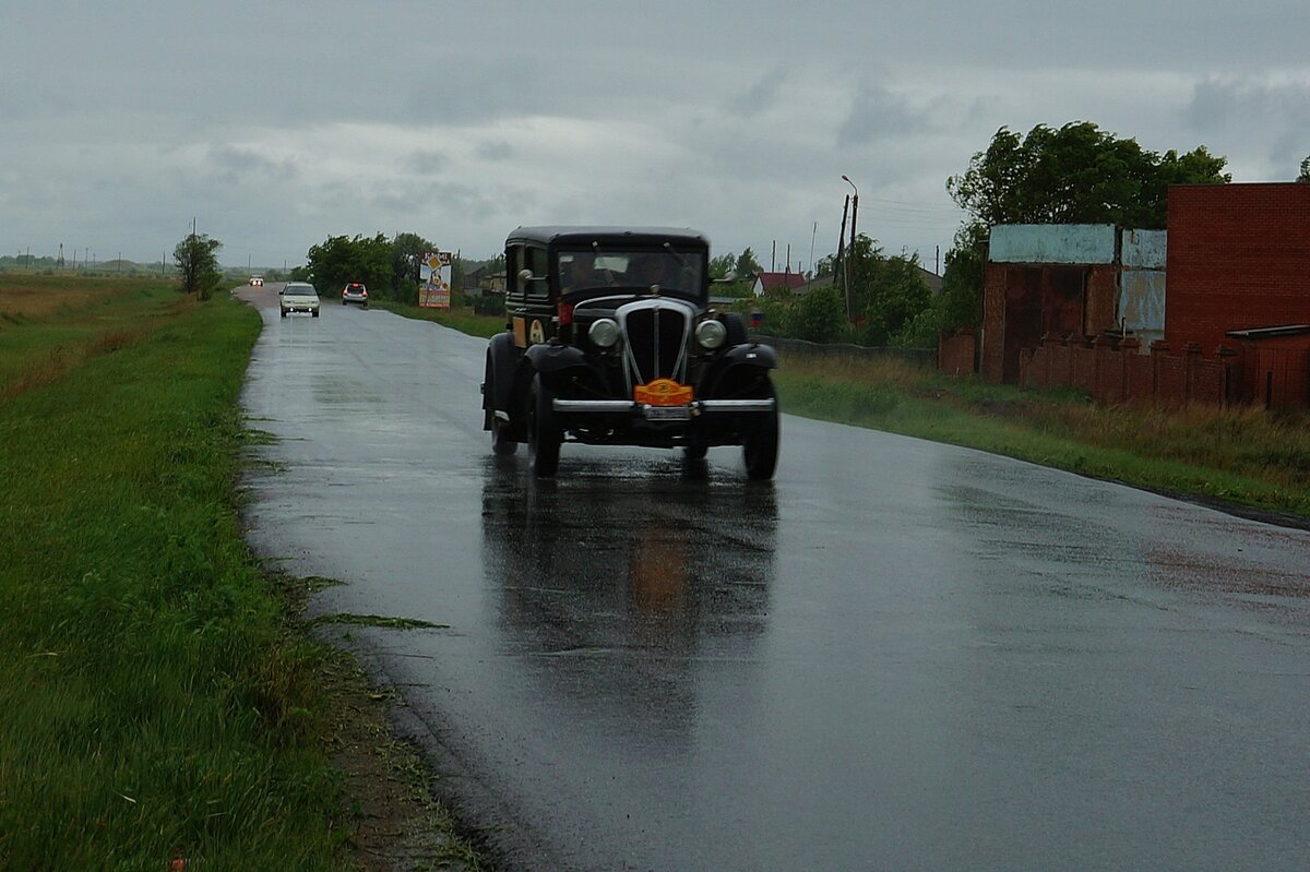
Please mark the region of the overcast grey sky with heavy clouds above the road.
<svg viewBox="0 0 1310 872"><path fill-rule="evenodd" d="M1238 182L1310 154L1303 0L549 4L5 0L0 254L225 264L413 232L694 227L810 268L859 230L931 268L946 178L1000 127L1207 145ZM777 246L776 259L773 258Z"/></svg>

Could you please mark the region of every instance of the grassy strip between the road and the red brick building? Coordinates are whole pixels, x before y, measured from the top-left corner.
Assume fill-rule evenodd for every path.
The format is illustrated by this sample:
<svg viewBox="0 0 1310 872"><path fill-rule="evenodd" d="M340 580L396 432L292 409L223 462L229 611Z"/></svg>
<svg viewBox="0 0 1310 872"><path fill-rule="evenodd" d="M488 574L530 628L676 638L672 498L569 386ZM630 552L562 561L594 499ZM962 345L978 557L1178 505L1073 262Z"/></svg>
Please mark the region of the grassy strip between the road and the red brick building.
<svg viewBox="0 0 1310 872"><path fill-rule="evenodd" d="M1310 517L1306 418L1103 407L899 361L783 356L787 412L977 448L1180 496Z"/></svg>

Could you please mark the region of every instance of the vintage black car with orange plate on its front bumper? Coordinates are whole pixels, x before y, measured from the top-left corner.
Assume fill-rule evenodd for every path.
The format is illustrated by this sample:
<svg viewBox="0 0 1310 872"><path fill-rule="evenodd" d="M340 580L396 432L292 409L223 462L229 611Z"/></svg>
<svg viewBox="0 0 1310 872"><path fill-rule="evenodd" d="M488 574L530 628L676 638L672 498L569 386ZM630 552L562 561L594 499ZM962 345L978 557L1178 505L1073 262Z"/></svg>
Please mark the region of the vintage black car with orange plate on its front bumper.
<svg viewBox="0 0 1310 872"><path fill-rule="evenodd" d="M506 330L487 347L483 429L498 454L528 443L554 475L566 440L741 445L773 477L777 352L710 306L710 244L675 228L520 227L506 240Z"/></svg>

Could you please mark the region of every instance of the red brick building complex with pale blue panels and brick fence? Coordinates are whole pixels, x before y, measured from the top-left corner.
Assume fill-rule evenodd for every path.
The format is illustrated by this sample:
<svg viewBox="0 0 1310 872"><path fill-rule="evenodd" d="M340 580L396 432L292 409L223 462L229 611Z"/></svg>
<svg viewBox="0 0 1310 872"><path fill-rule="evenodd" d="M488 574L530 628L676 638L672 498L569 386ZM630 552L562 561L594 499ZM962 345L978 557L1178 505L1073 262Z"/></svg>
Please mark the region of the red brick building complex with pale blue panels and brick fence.
<svg viewBox="0 0 1310 872"><path fill-rule="evenodd" d="M1167 245L1123 230L1111 251L1106 232L992 229L985 378L1107 402L1310 407L1310 185L1175 186Z"/></svg>

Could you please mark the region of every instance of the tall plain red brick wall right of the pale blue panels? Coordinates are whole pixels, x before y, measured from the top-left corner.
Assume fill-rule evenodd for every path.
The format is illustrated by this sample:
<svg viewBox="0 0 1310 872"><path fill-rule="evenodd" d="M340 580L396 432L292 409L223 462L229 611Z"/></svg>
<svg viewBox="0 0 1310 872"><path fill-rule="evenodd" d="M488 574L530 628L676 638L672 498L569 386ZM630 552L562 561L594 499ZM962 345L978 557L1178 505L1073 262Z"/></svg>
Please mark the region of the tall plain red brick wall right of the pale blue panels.
<svg viewBox="0 0 1310 872"><path fill-rule="evenodd" d="M1169 190L1165 339L1207 354L1224 334L1310 323L1310 185Z"/></svg>

